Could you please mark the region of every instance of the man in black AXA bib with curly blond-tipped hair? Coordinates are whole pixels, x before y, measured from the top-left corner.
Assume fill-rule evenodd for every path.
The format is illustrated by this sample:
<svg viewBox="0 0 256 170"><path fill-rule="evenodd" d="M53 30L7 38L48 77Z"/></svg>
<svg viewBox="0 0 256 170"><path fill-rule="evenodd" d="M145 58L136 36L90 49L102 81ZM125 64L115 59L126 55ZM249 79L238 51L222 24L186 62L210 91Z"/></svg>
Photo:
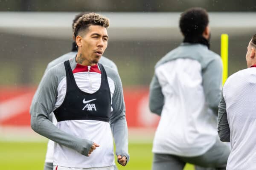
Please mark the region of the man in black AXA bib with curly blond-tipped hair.
<svg viewBox="0 0 256 170"><path fill-rule="evenodd" d="M80 17L74 24L77 55L47 71L32 101L32 129L55 142L55 169L113 170L112 133L119 163L129 161L122 83L116 71L98 63L108 26L99 14ZM52 111L57 127L49 121Z"/></svg>

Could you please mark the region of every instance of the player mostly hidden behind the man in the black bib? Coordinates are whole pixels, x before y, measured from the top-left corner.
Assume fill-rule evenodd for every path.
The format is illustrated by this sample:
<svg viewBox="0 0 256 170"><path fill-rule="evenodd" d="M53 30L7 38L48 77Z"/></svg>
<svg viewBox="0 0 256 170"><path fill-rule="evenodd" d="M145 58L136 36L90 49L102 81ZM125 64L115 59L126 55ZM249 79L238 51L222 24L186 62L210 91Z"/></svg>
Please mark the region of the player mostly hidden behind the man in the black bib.
<svg viewBox="0 0 256 170"><path fill-rule="evenodd" d="M76 23L76 21L79 19L79 17L81 17L83 14L86 14L86 13L81 13L81 14L76 15L75 19L73 20L73 26L74 26L74 23ZM75 40L74 37L73 37L73 39ZM70 53L64 54L63 56L61 56L61 57L53 60L52 62L50 62L47 65L47 69L45 71L45 74L53 66L55 66L55 65L57 65L57 64L59 64L61 62L64 62L67 59L75 57L76 54L77 54L76 42L73 42L72 51ZM107 58L102 56L100 58L99 62L102 63L103 65L107 65L108 67L114 69L117 72L117 67L114 64L114 62L112 62L111 60L109 60L109 59L107 59ZM38 90L37 90L36 93L38 93ZM35 98L35 96L34 96L34 98ZM57 121L55 119L54 114L50 114L50 116L52 117L52 122L56 125ZM52 164L52 162L53 162L53 145L54 145L54 142L49 140L48 147L47 147L47 155L46 155L44 170L52 170L53 169L53 164ZM118 159L120 159L120 156L118 157ZM115 169L117 169L117 168L115 167Z"/></svg>

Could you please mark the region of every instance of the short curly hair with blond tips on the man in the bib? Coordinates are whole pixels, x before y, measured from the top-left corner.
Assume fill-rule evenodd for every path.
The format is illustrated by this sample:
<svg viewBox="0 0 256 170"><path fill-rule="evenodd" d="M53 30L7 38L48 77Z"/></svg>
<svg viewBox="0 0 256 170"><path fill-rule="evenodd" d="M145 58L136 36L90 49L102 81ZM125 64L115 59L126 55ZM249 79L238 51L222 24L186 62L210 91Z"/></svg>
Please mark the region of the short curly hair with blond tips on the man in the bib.
<svg viewBox="0 0 256 170"><path fill-rule="evenodd" d="M109 19L101 14L88 13L84 14L76 21L73 26L74 36L78 36L81 32L84 32L89 26L102 26L108 28Z"/></svg>

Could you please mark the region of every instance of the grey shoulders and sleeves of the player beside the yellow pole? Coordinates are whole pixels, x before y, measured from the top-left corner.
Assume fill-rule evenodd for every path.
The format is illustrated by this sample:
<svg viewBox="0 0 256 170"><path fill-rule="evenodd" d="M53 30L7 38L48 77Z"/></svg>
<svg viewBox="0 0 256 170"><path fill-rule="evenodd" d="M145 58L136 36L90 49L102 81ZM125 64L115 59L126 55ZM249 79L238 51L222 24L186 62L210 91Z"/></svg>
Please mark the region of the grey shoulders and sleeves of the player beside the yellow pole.
<svg viewBox="0 0 256 170"><path fill-rule="evenodd" d="M155 68L175 59L193 59L201 64L203 88L206 102L214 113L218 114L218 103L221 98L222 63L218 54L208 50L205 45L182 43L157 62ZM150 84L149 108L151 112L161 115L164 95L159 80L154 74Z"/></svg>

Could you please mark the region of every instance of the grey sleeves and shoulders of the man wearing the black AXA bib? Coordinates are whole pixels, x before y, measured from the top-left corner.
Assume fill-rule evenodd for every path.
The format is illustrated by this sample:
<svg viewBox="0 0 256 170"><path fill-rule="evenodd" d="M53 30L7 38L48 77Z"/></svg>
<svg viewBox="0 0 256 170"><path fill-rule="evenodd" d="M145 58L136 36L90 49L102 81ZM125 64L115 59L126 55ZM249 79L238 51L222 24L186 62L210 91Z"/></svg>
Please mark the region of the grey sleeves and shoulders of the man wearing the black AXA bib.
<svg viewBox="0 0 256 170"><path fill-rule="evenodd" d="M70 60L71 68L76 67L75 58ZM116 143L116 155L128 155L128 128L125 119L125 104L122 83L119 75L111 68L105 67L108 77L113 79L115 91L112 97L111 130ZM31 126L35 132L54 142L70 147L77 152L87 155L92 142L80 139L59 130L49 121L49 114L53 111L57 99L57 87L61 79L66 76L64 64L58 64L44 75L31 106Z"/></svg>

